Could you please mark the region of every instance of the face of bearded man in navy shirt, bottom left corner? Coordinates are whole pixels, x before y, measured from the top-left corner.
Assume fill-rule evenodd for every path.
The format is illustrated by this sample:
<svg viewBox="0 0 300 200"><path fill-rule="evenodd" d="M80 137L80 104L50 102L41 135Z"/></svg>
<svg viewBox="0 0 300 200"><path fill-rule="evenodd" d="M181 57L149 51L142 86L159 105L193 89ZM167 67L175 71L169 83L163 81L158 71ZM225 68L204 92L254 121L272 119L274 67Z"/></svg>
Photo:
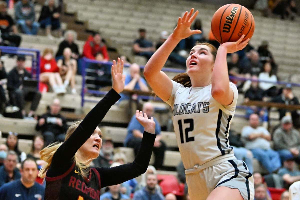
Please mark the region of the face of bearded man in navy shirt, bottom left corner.
<svg viewBox="0 0 300 200"><path fill-rule="evenodd" d="M25 161L23 169L20 170L22 181L30 184L35 182L35 178L38 175L37 165L33 160Z"/></svg>

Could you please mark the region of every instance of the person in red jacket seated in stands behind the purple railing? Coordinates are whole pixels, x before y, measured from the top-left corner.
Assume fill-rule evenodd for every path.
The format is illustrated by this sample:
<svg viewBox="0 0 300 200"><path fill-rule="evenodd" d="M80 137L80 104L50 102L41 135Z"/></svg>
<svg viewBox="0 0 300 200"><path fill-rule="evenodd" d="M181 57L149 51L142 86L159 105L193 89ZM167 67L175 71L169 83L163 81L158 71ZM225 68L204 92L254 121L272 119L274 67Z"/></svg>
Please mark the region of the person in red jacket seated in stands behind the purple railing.
<svg viewBox="0 0 300 200"><path fill-rule="evenodd" d="M95 60L95 56L99 52L102 53L104 61L109 60L107 48L105 44L101 41L101 35L95 32L93 36L89 36L88 40L85 42L83 46L82 56Z"/></svg>

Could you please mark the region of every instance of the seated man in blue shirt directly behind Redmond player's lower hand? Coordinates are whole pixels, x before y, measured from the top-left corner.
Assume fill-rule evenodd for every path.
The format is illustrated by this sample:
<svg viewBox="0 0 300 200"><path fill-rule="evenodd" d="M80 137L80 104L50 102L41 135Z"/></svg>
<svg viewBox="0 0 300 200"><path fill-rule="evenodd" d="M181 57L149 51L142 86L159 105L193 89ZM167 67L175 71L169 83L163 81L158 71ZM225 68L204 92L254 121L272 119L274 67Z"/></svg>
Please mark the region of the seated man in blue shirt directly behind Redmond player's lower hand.
<svg viewBox="0 0 300 200"><path fill-rule="evenodd" d="M147 102L143 105L143 113L146 113L149 119L152 117L154 112L154 107L152 103ZM166 144L161 141L161 126L158 123L157 119L154 118L155 121L155 134L156 139L154 143L153 153L155 156L154 167L156 169L162 169L164 162L164 153L166 151ZM140 145L143 138L144 127L137 121L135 115L131 118L131 121L127 127L128 133L124 141L125 147L134 148L134 154L137 155L137 152L140 149Z"/></svg>

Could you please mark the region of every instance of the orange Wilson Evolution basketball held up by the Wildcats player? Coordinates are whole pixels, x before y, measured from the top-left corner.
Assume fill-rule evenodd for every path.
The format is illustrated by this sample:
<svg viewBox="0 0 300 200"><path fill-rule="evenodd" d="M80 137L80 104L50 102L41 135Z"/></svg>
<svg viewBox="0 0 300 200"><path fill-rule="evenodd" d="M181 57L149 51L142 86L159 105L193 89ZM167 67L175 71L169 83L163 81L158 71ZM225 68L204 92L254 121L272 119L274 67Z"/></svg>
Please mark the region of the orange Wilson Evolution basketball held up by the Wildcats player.
<svg viewBox="0 0 300 200"><path fill-rule="evenodd" d="M219 43L235 42L243 34L244 40L251 38L255 23L250 11L239 4L220 7L211 19L211 32Z"/></svg>

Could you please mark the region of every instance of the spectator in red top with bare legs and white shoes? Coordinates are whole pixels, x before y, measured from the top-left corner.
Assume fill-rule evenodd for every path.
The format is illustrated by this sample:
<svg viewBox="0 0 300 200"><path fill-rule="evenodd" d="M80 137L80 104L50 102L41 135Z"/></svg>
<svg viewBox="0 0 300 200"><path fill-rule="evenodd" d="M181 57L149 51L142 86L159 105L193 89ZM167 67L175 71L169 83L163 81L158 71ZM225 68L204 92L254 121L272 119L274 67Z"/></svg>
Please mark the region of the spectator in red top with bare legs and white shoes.
<svg viewBox="0 0 300 200"><path fill-rule="evenodd" d="M53 91L57 94L66 93L66 87L64 86L59 74L59 68L57 67L52 49L46 48L44 50L43 56L41 57L40 70L41 82L49 83Z"/></svg>

